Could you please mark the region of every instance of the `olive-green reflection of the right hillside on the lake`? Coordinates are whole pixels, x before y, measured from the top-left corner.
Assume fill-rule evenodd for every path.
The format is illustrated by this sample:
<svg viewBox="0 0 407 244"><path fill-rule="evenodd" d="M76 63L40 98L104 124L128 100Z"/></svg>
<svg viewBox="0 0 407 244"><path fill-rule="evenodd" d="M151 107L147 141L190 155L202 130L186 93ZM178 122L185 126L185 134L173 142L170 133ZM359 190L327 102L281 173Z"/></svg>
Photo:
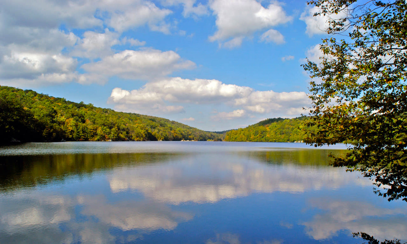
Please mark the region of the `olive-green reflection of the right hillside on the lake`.
<svg viewBox="0 0 407 244"><path fill-rule="evenodd" d="M304 166L327 166L330 158L346 153L346 150L324 150L324 149L295 149L289 150L269 150L250 152L251 157L256 157L258 161L271 164L297 164Z"/></svg>

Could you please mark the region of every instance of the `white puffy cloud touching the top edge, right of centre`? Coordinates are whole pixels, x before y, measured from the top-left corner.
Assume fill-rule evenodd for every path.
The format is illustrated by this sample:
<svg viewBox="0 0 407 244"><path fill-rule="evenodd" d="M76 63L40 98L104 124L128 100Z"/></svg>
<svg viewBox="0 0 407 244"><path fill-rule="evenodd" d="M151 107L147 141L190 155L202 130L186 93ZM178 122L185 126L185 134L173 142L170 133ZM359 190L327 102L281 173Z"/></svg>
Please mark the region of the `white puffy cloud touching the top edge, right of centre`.
<svg viewBox="0 0 407 244"><path fill-rule="evenodd" d="M217 32L209 37L209 40L232 39L234 46L240 46L244 37L252 35L258 30L291 20L278 2L272 2L265 8L255 0L212 0L209 6L217 17L216 26L218 28ZM230 45L232 44L228 46L230 47Z"/></svg>

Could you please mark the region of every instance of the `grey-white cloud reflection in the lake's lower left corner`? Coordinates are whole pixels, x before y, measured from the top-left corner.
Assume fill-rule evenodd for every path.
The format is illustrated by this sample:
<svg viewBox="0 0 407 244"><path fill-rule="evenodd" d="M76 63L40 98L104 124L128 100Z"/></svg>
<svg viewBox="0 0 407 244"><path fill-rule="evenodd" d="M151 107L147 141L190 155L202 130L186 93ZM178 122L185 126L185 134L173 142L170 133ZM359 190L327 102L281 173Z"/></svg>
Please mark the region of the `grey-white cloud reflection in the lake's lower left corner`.
<svg viewBox="0 0 407 244"><path fill-rule="evenodd" d="M82 221L77 221L77 207L81 208ZM112 227L145 233L172 230L179 222L193 218L148 200L109 203L102 195L41 192L3 197L0 209L0 243L114 243L116 237L109 231Z"/></svg>

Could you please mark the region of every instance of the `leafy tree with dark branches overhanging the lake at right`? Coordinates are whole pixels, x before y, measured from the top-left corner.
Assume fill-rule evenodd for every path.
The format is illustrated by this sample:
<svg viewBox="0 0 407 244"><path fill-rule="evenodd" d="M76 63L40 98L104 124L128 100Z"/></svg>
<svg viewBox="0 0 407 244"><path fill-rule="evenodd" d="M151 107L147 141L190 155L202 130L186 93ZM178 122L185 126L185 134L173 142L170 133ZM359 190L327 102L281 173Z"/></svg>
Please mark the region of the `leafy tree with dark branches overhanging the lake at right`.
<svg viewBox="0 0 407 244"><path fill-rule="evenodd" d="M388 200L407 201L407 2L310 3L321 9L315 15L331 17L331 37L320 48L320 63L304 65L317 78L311 82L309 125L318 130L306 142L351 142L352 150L334 165L374 179L384 188L376 192ZM339 12L346 17L335 19Z"/></svg>

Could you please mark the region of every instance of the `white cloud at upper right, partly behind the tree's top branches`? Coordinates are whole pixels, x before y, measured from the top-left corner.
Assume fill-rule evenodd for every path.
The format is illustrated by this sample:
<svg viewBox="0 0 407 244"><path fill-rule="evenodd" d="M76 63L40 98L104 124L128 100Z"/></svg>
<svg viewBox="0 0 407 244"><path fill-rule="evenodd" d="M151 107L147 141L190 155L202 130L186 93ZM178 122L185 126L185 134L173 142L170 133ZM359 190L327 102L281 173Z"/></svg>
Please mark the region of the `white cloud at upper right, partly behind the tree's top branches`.
<svg viewBox="0 0 407 244"><path fill-rule="evenodd" d="M306 10L301 14L300 20L304 21L306 24L306 31L310 37L314 34L324 34L329 27L329 20L344 18L348 15L347 11L341 11L337 14L330 15L317 15L314 13L321 12L318 7L306 8Z"/></svg>

